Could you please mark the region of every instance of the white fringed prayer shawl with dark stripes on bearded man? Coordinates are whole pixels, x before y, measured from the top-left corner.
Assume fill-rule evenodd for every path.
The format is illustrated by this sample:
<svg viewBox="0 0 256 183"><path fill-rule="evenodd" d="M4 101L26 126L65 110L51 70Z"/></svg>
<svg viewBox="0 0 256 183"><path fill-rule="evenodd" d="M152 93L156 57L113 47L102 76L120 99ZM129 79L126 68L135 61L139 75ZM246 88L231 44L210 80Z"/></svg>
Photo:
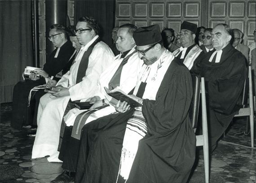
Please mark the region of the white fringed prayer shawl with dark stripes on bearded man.
<svg viewBox="0 0 256 183"><path fill-rule="evenodd" d="M173 54L165 49L161 57L159 57L159 59L152 65L143 65L133 94L137 94L141 82L144 82L147 84L142 98L155 100L155 96L163 77L173 59ZM116 183L118 182L119 176L122 176L125 182L127 181L138 150L139 141L146 135L146 133L146 119L142 114L141 107L135 108L132 117L128 119L126 125Z"/></svg>

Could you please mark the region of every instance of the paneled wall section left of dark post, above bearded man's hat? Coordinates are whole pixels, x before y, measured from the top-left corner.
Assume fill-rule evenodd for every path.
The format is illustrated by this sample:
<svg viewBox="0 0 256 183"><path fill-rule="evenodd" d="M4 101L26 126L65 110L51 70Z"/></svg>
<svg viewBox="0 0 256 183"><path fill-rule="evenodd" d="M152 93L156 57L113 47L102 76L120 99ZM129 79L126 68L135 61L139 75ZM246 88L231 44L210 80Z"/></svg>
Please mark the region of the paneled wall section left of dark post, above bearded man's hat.
<svg viewBox="0 0 256 183"><path fill-rule="evenodd" d="M159 24L161 30L180 31L181 22L201 26L203 0L116 0L115 25L132 23L137 27Z"/></svg>

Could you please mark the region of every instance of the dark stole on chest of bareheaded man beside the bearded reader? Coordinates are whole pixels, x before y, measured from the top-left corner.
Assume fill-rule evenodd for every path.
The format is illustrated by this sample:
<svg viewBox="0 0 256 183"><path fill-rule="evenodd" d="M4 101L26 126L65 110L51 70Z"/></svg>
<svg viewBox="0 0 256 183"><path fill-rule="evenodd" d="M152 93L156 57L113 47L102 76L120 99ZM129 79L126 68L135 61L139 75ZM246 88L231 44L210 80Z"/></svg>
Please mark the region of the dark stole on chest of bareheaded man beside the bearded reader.
<svg viewBox="0 0 256 183"><path fill-rule="evenodd" d="M123 66L128 62L128 59L135 53L136 51L132 52L130 55L128 55L124 60L121 62L117 70L115 71L115 74L110 79L110 82L108 83L108 89L113 90L115 87L118 87L120 85L120 77L121 72L123 69ZM122 58L122 55L121 55Z"/></svg>

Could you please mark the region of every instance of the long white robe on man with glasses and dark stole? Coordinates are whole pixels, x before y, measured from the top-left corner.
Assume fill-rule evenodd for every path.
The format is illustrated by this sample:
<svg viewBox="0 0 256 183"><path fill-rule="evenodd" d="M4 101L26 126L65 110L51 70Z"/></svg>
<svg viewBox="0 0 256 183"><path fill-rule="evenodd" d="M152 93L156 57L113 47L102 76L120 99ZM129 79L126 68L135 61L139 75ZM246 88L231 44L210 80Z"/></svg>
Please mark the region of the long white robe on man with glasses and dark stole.
<svg viewBox="0 0 256 183"><path fill-rule="evenodd" d="M113 52L103 42L97 43L89 56L86 75L76 84L76 76L81 58L88 47L93 44L95 36L88 44L82 46L70 71L62 76L57 85L69 88L70 96L54 97L46 94L40 99L37 115L37 131L32 149L32 158L48 157L49 162L61 162L57 151L62 118L68 101L86 100L97 91L97 80L114 58ZM85 73L84 73L85 74Z"/></svg>

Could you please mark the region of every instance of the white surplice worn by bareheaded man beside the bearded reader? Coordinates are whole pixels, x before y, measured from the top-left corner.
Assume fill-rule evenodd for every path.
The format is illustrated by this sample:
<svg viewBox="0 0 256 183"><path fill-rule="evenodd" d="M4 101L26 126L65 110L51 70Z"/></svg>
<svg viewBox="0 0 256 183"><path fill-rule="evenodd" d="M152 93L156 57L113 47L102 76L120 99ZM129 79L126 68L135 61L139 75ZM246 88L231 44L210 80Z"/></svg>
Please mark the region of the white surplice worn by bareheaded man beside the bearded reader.
<svg viewBox="0 0 256 183"><path fill-rule="evenodd" d="M128 52L126 57L134 51L135 49L132 48L132 50ZM116 56L112 65L110 65L110 67L101 74L100 79L98 80L98 88L97 92L95 93L95 96L99 96L101 99L105 99L106 93L104 87L108 88L108 83L110 82L110 79L115 74L123 59L124 58L121 58L121 54ZM130 92L136 85L137 76L139 74L139 71L141 70L142 65L143 61L139 58L138 53L134 53L122 68L120 76L120 85L118 88L124 91L125 93ZM84 111L86 110L79 110L77 108L71 109L64 117L66 125L73 126L75 118L78 116L78 114ZM84 124L87 124L88 122L91 122L97 118L101 118L114 112L116 112L115 107L111 105L103 109L97 110L87 118Z"/></svg>

